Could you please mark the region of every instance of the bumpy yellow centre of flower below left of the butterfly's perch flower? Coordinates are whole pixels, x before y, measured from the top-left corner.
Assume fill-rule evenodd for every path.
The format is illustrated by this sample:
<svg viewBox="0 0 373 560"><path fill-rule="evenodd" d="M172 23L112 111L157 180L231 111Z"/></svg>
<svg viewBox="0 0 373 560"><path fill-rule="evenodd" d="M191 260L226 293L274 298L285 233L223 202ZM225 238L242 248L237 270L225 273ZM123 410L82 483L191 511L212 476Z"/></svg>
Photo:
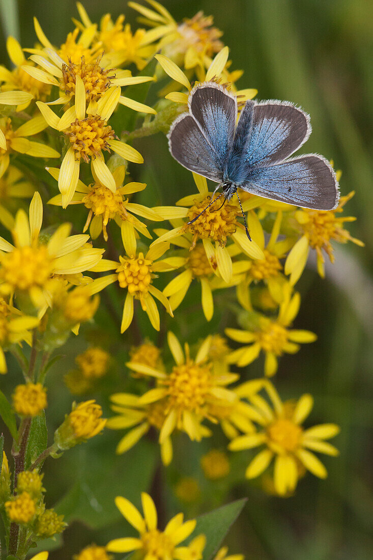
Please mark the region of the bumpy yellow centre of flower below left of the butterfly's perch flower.
<svg viewBox="0 0 373 560"><path fill-rule="evenodd" d="M120 265L116 269L119 286L127 288L137 299L147 296L152 281L152 260L145 259L143 253L139 253L138 257L120 256L119 260Z"/></svg>

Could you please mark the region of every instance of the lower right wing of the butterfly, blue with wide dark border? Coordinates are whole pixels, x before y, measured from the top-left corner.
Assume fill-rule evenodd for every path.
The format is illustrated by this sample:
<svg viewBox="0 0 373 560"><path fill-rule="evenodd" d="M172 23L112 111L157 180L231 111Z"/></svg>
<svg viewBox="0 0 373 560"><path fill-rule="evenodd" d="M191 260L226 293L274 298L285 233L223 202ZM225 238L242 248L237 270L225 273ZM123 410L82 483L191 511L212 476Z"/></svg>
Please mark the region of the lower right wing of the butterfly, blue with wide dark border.
<svg viewBox="0 0 373 560"><path fill-rule="evenodd" d="M260 197L316 210L332 210L339 199L332 167L313 153L251 169L240 187Z"/></svg>

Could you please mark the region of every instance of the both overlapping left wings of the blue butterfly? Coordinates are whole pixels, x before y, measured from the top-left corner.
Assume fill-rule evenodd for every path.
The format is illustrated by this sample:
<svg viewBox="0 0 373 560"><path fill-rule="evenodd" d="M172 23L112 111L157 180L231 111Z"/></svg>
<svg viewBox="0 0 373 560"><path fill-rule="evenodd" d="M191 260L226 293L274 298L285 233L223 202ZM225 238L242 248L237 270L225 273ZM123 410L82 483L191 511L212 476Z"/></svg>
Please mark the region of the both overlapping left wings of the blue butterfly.
<svg viewBox="0 0 373 560"><path fill-rule="evenodd" d="M234 141L237 102L215 82L204 82L190 92L189 113L172 124L171 155L190 171L221 183Z"/></svg>

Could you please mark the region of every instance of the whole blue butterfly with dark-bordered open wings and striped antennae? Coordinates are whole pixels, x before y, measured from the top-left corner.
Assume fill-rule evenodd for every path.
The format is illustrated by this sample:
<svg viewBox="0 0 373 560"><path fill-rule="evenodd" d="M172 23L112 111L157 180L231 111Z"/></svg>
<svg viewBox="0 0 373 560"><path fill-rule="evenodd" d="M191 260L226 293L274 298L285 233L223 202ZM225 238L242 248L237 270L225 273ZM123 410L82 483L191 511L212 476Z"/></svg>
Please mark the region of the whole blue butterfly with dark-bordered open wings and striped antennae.
<svg viewBox="0 0 373 560"><path fill-rule="evenodd" d="M186 169L218 183L207 208L222 195L223 204L239 197L238 188L303 208L337 207L338 182L328 160L315 153L289 157L311 133L302 109L289 101L249 100L236 124L237 99L215 82L194 86L188 108L171 125L169 149ZM250 239L246 221L245 228Z"/></svg>

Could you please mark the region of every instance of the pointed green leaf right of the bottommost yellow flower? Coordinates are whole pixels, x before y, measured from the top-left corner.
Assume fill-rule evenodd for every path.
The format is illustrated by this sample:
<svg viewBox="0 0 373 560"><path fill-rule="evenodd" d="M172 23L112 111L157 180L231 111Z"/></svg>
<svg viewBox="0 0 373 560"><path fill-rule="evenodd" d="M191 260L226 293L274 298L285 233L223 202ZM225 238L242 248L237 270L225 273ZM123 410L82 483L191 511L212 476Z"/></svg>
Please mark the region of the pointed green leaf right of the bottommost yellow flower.
<svg viewBox="0 0 373 560"><path fill-rule="evenodd" d="M203 534L206 536L206 547L203 550L204 560L211 560L217 553L231 525L243 510L246 501L247 498L242 498L197 517L197 525L188 542L197 535Z"/></svg>

